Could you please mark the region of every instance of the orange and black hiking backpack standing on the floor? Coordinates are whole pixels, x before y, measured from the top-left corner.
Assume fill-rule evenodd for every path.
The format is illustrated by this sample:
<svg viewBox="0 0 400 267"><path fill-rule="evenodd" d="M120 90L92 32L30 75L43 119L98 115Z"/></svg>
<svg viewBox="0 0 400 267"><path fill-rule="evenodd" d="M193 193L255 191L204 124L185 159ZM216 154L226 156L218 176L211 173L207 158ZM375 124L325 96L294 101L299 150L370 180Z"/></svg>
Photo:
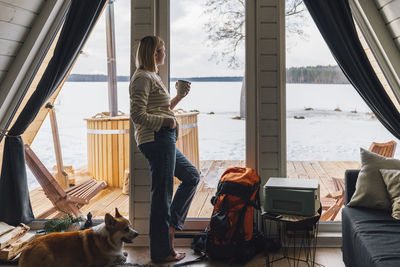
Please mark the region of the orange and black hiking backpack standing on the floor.
<svg viewBox="0 0 400 267"><path fill-rule="evenodd" d="M254 209L260 209L260 178L251 168L229 168L221 176L207 232L212 259L246 262L255 254Z"/></svg>

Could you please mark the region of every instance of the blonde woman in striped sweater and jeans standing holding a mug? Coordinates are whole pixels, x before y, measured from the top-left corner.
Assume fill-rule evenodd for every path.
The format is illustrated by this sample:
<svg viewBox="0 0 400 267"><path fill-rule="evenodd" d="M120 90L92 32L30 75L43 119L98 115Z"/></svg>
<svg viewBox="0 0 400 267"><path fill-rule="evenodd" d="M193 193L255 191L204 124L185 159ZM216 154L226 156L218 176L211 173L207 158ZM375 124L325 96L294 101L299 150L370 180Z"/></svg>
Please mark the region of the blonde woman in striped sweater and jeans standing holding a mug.
<svg viewBox="0 0 400 267"><path fill-rule="evenodd" d="M140 40L137 70L131 79L131 119L136 143L151 169L150 256L153 261L177 261L185 253L174 249L174 233L182 230L200 177L175 146L177 121L172 109L189 93L190 84L185 94L170 99L157 75L164 59L165 46L160 37ZM182 183L171 203L174 176Z"/></svg>

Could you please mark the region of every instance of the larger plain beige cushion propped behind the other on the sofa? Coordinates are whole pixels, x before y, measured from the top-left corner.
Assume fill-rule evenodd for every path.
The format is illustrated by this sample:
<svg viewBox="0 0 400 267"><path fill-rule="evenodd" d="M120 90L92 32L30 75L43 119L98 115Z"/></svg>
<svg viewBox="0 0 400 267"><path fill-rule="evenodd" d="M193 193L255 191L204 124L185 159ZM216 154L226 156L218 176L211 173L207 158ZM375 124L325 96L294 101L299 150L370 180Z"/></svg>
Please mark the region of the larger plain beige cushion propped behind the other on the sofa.
<svg viewBox="0 0 400 267"><path fill-rule="evenodd" d="M347 205L389 211L392 209L392 205L379 170L400 170L400 160L388 159L363 148L360 150L361 170L357 179L356 191Z"/></svg>

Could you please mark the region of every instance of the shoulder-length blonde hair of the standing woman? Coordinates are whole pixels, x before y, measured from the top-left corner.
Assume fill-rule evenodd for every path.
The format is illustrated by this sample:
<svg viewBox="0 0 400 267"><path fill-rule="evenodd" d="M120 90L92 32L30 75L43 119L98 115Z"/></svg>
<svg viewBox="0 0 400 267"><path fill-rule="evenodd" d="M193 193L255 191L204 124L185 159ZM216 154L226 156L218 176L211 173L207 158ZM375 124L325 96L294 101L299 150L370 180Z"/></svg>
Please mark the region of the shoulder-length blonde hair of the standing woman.
<svg viewBox="0 0 400 267"><path fill-rule="evenodd" d="M136 51L136 68L157 72L155 54L163 46L164 41L158 36L143 37Z"/></svg>

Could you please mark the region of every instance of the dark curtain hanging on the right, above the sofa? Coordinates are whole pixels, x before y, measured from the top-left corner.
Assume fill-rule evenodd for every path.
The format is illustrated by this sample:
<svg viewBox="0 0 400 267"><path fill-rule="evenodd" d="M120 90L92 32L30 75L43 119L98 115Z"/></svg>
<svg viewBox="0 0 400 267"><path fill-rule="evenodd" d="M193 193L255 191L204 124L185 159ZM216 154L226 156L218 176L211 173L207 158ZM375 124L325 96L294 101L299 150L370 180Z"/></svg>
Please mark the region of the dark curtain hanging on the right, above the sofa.
<svg viewBox="0 0 400 267"><path fill-rule="evenodd" d="M348 0L304 0L339 67L378 120L400 139L400 114L358 39Z"/></svg>

